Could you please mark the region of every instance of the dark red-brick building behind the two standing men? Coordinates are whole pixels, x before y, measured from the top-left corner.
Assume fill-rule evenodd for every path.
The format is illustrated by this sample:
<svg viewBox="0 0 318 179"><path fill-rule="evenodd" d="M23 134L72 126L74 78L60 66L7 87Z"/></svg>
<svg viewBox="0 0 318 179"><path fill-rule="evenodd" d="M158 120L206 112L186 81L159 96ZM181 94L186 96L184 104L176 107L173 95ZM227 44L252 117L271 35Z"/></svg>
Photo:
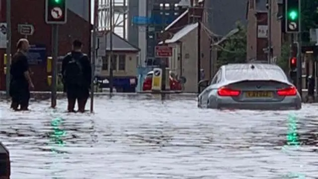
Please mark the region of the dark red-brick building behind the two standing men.
<svg viewBox="0 0 318 179"><path fill-rule="evenodd" d="M0 22L6 21L5 15L5 0L0 1ZM90 3L89 3L90 5ZM90 7L89 7L90 9ZM44 21L45 14L45 0L11 0L11 35L12 46L11 52L15 53L15 43L19 38L24 37L18 33L18 24L32 24L34 26L34 34L29 36L30 44L41 44L46 48L46 55L51 56L51 26ZM90 12L89 12L90 14ZM71 50L72 41L79 39L83 42L84 53L90 53L90 30L91 24L89 21L83 19L75 12L68 10L67 24L59 27L59 49L58 55L65 55ZM89 18L90 19L90 18ZM5 48L0 49L0 90L5 89L5 74L3 56ZM47 61L36 65L30 65L32 72L32 80L34 82L35 90L49 90L47 81Z"/></svg>

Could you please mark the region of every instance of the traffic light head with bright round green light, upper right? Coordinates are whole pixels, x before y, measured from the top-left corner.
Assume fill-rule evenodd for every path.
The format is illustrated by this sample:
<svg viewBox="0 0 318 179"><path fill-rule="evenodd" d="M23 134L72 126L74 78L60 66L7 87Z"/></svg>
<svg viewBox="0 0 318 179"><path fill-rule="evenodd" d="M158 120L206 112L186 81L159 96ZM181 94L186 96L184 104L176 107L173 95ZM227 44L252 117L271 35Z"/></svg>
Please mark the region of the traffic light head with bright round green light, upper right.
<svg viewBox="0 0 318 179"><path fill-rule="evenodd" d="M285 3L286 33L300 32L300 1L301 0L286 0L286 3Z"/></svg>

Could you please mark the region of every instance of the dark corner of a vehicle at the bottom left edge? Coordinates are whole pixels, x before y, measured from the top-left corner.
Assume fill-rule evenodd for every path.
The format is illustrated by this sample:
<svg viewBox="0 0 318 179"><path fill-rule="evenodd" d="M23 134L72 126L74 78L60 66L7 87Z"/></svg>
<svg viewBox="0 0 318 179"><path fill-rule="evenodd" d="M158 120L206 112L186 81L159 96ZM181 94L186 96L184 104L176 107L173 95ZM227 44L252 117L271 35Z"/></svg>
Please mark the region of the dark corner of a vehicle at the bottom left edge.
<svg viewBox="0 0 318 179"><path fill-rule="evenodd" d="M10 165L9 151L0 142L0 179L10 179Z"/></svg>

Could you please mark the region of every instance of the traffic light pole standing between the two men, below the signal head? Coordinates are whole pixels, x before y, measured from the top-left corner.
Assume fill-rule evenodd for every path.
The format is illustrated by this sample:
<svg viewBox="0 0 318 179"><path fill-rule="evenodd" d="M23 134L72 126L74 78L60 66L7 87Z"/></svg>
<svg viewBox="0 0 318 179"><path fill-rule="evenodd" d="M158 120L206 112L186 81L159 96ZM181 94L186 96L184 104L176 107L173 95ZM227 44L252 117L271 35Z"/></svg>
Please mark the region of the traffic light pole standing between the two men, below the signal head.
<svg viewBox="0 0 318 179"><path fill-rule="evenodd" d="M52 25L52 83L51 83L51 107L56 107L57 98L57 63L58 63L58 38L59 25Z"/></svg>

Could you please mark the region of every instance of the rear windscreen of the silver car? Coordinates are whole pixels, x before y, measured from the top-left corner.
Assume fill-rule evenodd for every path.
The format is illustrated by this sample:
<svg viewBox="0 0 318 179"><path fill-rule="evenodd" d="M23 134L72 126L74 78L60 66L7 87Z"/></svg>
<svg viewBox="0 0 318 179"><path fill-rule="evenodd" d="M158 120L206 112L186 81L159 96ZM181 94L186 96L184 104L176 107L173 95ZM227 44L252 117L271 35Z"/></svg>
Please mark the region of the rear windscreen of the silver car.
<svg viewBox="0 0 318 179"><path fill-rule="evenodd" d="M278 68L272 69L227 69L225 78L237 80L287 80L284 72Z"/></svg>

